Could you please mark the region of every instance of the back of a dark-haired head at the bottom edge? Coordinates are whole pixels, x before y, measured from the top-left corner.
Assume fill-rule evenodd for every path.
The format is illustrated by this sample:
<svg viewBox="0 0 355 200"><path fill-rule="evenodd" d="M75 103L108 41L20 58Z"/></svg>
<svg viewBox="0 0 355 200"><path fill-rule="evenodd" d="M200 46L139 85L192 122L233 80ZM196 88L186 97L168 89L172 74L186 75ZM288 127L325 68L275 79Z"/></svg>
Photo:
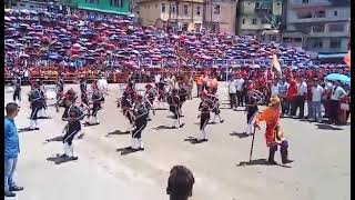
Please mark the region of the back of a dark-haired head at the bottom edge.
<svg viewBox="0 0 355 200"><path fill-rule="evenodd" d="M195 179L192 172L184 166L174 166L170 170L166 193L170 200L187 200L192 197Z"/></svg>

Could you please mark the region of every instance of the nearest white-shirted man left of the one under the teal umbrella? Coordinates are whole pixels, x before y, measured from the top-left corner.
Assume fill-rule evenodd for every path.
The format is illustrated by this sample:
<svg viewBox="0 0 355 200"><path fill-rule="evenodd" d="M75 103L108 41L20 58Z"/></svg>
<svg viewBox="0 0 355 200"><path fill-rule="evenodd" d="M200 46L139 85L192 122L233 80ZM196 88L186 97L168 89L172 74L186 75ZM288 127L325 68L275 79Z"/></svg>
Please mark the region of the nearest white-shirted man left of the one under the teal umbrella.
<svg viewBox="0 0 355 200"><path fill-rule="evenodd" d="M322 119L322 96L323 96L324 89L320 86L318 80L314 80L313 87L312 87L312 108L313 108L313 119L315 121L321 121Z"/></svg>

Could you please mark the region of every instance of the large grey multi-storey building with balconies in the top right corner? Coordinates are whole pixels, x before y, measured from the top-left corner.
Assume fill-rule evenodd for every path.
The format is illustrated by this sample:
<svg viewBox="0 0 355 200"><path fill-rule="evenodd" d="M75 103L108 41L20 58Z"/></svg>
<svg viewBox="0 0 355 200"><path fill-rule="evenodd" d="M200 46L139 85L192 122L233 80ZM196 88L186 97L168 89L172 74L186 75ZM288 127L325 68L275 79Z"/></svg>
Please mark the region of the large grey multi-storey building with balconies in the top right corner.
<svg viewBox="0 0 355 200"><path fill-rule="evenodd" d="M343 58L351 36L351 0L287 0L282 41L317 52L320 59Z"/></svg>

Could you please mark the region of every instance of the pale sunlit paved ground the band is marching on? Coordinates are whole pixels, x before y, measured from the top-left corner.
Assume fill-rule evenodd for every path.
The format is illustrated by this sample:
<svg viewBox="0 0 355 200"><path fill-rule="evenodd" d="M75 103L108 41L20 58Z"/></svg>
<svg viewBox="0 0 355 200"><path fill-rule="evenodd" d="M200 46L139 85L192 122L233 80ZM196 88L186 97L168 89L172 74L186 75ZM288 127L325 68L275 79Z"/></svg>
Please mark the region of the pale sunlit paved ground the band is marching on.
<svg viewBox="0 0 355 200"><path fill-rule="evenodd" d="M222 87L222 86L221 86ZM75 86L78 89L78 86ZM65 89L69 89L67 86ZM29 88L22 91L23 99ZM118 84L110 84L110 96L99 112L101 124L83 128L83 139L74 140L79 160L54 164L48 158L62 153L60 141L45 142L61 136L64 122L53 107L53 118L40 121L40 131L21 132L21 154L18 163L19 200L158 200L165 194L169 171L184 164L195 176L192 200L348 200L351 199L351 129L295 119L282 119L290 140L290 156L295 160L288 168L265 166L267 158L262 131L255 138L253 159L248 166L251 137L240 138L245 130L243 111L222 109L224 123L207 126L209 142L192 144L184 141L199 130L199 100L183 107L186 123L182 129L156 129L170 126L172 116L158 111L143 132L145 151L121 156L116 150L130 144L123 131L128 120L115 106ZM227 108L226 89L220 89L222 106ZM11 100L6 94L6 102ZM22 103L18 128L29 126L28 102ZM109 134L113 133L113 134ZM280 152L276 161L281 162ZM8 198L11 199L11 198Z"/></svg>

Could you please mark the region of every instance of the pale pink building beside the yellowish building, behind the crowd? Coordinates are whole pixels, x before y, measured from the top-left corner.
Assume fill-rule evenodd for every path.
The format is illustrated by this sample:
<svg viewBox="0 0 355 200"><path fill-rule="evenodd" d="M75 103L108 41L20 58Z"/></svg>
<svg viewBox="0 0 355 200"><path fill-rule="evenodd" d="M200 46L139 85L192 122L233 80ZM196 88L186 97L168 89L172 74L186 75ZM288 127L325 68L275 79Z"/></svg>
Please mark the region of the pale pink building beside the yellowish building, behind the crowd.
<svg viewBox="0 0 355 200"><path fill-rule="evenodd" d="M210 32L235 34L236 0L209 0L204 7L204 27Z"/></svg>

